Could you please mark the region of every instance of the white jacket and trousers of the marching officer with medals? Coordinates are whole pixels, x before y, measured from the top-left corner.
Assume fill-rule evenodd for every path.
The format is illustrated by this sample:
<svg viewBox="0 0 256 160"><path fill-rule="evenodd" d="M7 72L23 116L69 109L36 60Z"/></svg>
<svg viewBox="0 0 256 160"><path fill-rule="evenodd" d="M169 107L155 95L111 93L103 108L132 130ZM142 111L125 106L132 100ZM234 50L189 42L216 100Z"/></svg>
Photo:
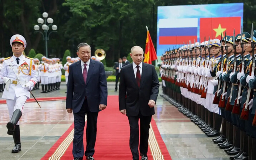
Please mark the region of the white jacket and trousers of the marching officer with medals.
<svg viewBox="0 0 256 160"><path fill-rule="evenodd" d="M16 109L22 112L26 100L30 97L30 92L24 88L24 85L28 82L35 85L38 82L33 60L24 57L24 55L18 58L19 64L17 64L14 55L6 58L0 72L0 82L9 79L6 82L2 98L6 99L10 118Z"/></svg>

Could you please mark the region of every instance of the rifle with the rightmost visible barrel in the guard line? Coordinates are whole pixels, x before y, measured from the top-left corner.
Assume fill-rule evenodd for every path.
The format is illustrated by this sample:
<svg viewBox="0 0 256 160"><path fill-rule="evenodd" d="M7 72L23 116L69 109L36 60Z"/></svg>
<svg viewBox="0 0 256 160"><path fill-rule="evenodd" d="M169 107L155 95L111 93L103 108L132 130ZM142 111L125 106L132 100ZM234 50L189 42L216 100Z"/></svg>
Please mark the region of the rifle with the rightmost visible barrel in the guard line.
<svg viewBox="0 0 256 160"><path fill-rule="evenodd" d="M252 34L251 34L251 47L252 47L252 68L250 68L250 76L254 76L254 70L255 70L255 56L254 56L254 45L255 43L253 42L253 24L252 24ZM243 110L240 116L241 120L248 120L249 118L249 108L248 108L248 103L249 101L253 98L252 97L252 89L248 87L248 92L247 92L247 99L245 104L243 105Z"/></svg>

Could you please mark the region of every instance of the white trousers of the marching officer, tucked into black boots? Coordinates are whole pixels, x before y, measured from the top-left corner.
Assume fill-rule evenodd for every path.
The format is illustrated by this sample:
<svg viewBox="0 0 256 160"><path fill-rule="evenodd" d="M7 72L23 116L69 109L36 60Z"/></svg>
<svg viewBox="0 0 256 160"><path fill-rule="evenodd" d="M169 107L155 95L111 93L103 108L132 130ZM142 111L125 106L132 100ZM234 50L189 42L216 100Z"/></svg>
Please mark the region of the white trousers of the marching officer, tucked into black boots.
<svg viewBox="0 0 256 160"><path fill-rule="evenodd" d="M6 99L10 120L11 120L11 117L13 116L13 112L16 109L19 109L22 112L22 109L26 100L28 100L27 96L20 96L20 97L14 96L14 100ZM19 122L17 123L17 125L19 125Z"/></svg>

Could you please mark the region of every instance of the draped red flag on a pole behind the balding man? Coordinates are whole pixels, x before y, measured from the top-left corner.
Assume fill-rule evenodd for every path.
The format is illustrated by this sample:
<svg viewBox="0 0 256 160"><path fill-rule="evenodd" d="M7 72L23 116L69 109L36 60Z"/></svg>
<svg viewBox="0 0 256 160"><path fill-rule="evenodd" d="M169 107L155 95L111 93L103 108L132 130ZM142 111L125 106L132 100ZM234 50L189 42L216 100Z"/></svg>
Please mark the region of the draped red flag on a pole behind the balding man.
<svg viewBox="0 0 256 160"><path fill-rule="evenodd" d="M157 59L155 47L150 37L149 31L147 31L146 48L144 54L144 63L152 64L153 60Z"/></svg>

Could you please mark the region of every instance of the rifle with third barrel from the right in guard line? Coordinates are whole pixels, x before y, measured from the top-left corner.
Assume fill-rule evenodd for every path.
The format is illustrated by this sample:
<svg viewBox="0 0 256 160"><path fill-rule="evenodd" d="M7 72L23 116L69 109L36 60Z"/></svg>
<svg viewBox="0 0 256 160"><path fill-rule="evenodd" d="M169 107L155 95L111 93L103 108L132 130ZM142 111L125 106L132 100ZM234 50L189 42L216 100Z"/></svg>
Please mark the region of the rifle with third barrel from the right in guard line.
<svg viewBox="0 0 256 160"><path fill-rule="evenodd" d="M235 44L235 29L234 29L234 34L233 34L233 50L234 50L234 68L233 68L233 72L236 72L236 44ZM226 111L232 111L233 110L233 105L231 105L231 100L232 100L232 94L233 94L233 88L234 88L234 83L232 83L231 85L231 92L230 92L230 96L228 97L228 101L227 101L227 105L225 110Z"/></svg>

